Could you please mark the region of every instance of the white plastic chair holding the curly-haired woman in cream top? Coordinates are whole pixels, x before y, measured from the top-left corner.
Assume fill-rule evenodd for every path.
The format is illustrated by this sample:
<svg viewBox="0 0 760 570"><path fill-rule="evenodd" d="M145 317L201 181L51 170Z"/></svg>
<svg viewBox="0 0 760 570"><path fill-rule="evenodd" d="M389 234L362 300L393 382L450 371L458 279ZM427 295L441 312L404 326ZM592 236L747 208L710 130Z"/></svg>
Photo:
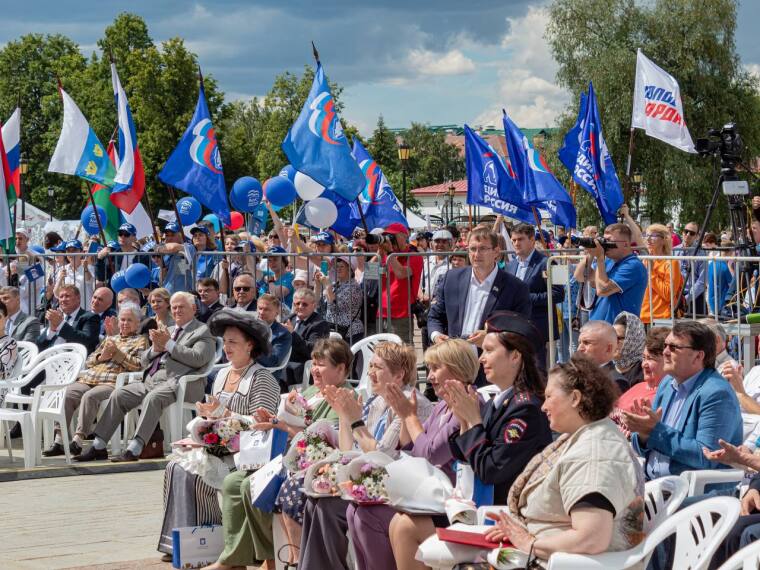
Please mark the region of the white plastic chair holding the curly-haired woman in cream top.
<svg viewBox="0 0 760 570"><path fill-rule="evenodd" d="M673 568L704 570L736 524L740 510L739 500L733 497L705 499L667 517L630 550L594 556L557 552L549 558L548 570L631 568L644 561L658 544L672 534L676 535Z"/></svg>

